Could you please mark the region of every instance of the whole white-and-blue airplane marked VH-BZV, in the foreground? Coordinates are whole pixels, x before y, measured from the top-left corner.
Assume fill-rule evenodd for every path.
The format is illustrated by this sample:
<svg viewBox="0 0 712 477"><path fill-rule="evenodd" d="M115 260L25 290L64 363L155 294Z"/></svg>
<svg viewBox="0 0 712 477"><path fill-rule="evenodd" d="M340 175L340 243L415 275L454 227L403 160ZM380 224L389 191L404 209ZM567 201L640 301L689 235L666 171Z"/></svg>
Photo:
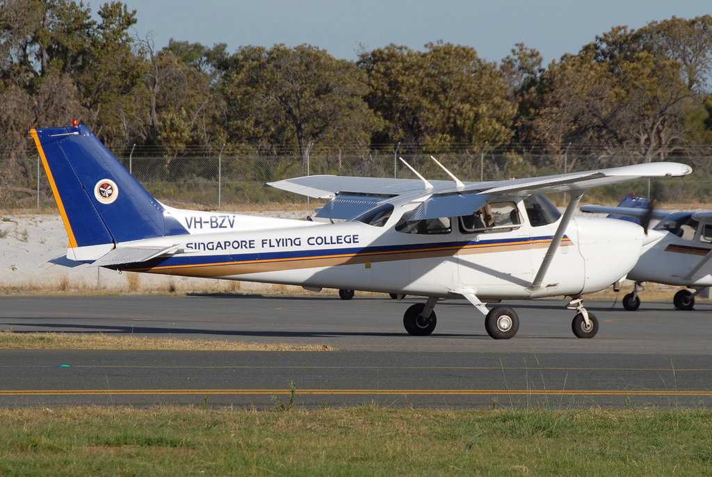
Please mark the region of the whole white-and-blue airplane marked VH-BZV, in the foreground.
<svg viewBox="0 0 712 477"><path fill-rule="evenodd" d="M441 298L469 300L485 315L488 334L502 339L516 334L519 318L487 302L570 296L574 334L593 337L598 322L581 295L621 280L644 234L624 221L573 217L582 194L691 172L659 162L464 183L443 167L452 182L428 182L414 169L419 179L272 182L330 199L322 221L302 221L174 209L154 199L85 125L31 135L66 226L68 259L120 271L424 296L404 314L411 335L434 330ZM545 192L571 194L563 214Z"/></svg>

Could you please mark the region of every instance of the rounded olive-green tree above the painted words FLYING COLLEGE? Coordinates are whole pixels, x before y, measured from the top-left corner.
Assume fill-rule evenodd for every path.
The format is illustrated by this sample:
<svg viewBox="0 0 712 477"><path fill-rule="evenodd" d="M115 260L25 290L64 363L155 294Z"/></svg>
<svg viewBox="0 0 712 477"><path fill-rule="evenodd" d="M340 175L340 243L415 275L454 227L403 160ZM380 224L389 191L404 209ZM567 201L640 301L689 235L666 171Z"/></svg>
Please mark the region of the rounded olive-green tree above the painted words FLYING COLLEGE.
<svg viewBox="0 0 712 477"><path fill-rule="evenodd" d="M305 159L316 142L365 145L377 127L363 73L315 46L243 46L223 67L231 142L295 145Z"/></svg>

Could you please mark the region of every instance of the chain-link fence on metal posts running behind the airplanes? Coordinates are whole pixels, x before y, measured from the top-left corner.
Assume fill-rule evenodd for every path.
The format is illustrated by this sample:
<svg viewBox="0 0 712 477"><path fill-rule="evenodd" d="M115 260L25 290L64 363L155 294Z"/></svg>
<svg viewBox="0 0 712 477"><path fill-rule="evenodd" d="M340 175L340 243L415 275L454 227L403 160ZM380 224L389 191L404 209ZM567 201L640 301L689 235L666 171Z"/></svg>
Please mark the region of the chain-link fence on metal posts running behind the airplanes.
<svg viewBox="0 0 712 477"><path fill-rule="evenodd" d="M449 179L430 159L431 154L315 151L304 159L298 155L221 154L206 150L169 157L155 154L150 148L120 150L123 153L117 157L122 164L157 199L172 206L199 209L252 210L286 203L306 206L305 198L265 185L302 175L414 178L398 157L403 157L428 179ZM604 157L599 153L576 152L557 155L446 152L435 157L464 181L534 177L639 162L634 156ZM662 203L704 204L712 189L712 154L671 157L670 160L690 164L694 173L671 182L624 184L593 190L585 201L614 203L625 195L624 191L635 189L641 195L655 196ZM0 157L0 211L52 213L54 210L51 189L36 152L3 154Z"/></svg>

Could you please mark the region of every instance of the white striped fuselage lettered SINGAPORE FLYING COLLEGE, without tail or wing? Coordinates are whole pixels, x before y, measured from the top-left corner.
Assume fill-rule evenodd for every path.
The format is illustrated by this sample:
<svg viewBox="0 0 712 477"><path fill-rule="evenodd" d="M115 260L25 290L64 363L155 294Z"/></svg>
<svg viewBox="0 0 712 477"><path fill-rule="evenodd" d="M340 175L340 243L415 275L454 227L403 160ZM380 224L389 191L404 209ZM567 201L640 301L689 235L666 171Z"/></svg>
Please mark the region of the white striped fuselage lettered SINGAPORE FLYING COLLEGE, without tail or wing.
<svg viewBox="0 0 712 477"><path fill-rule="evenodd" d="M516 207L526 217L522 202ZM257 230L245 225L254 219L250 216L182 217L191 224L189 235L119 247L174 246L179 251L125 270L438 297L471 288L486 301L607 288L634 266L642 243L642 229L634 224L576 217L544 283L532 290L558 221L532 226L522 220L507 229L468 233L458 218L451 218L449 231L414 234L397 230L402 215L392 214L382 226L279 219L266 228L270 222L263 220ZM241 229L215 231L223 220ZM211 222L212 229L195 226Z"/></svg>

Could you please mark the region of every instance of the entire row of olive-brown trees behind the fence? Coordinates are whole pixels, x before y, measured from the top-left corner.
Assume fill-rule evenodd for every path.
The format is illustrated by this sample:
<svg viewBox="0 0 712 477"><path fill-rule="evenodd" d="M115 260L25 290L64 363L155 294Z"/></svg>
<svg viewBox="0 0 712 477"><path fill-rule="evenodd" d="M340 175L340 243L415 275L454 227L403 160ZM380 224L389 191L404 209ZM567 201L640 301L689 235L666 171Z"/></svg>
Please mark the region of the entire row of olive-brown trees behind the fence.
<svg viewBox="0 0 712 477"><path fill-rule="evenodd" d="M573 144L603 164L712 146L710 15L618 26L549 65L523 43L501 61L442 41L356 61L307 44L157 48L132 34L136 21L120 1L95 19L75 1L0 0L0 151L16 159L6 173L30 167L31 127L73 118L110 147L157 147L166 169L223 145L305 158L315 145L562 156Z"/></svg>

